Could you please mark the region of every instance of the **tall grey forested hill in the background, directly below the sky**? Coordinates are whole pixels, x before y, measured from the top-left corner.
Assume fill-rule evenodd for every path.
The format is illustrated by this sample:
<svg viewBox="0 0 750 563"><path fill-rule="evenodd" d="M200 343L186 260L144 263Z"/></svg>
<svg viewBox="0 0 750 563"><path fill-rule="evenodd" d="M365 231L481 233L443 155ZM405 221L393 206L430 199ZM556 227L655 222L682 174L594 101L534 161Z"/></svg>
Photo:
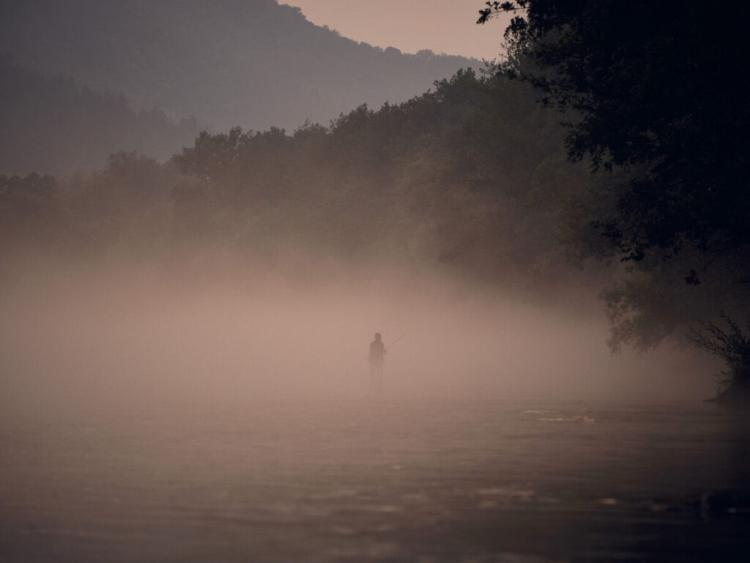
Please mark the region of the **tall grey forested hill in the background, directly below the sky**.
<svg viewBox="0 0 750 563"><path fill-rule="evenodd" d="M357 43L276 0L0 0L0 52L216 129L326 123L478 65Z"/></svg>

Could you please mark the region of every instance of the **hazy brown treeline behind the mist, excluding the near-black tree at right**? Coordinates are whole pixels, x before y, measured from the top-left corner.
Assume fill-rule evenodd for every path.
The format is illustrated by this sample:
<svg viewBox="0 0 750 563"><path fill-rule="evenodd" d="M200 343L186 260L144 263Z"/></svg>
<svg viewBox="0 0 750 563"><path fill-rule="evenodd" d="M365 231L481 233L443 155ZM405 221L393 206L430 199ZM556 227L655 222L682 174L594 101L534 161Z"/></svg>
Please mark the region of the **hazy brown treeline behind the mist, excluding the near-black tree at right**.
<svg viewBox="0 0 750 563"><path fill-rule="evenodd" d="M561 141L528 86L461 71L327 127L201 133L164 164L120 153L83 178L5 177L2 235L88 255L304 249L549 290L577 275L560 241L577 236L566 210L586 178Z"/></svg>

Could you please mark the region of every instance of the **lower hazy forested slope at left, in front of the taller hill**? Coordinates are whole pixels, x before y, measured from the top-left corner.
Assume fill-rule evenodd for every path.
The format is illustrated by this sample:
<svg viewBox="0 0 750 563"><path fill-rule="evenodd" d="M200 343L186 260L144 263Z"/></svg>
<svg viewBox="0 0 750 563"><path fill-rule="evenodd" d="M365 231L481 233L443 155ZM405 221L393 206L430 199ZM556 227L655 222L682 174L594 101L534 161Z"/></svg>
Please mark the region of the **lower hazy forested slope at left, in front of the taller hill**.
<svg viewBox="0 0 750 563"><path fill-rule="evenodd" d="M136 111L124 97L64 76L44 76L0 57L0 174L66 174L99 167L114 152L166 158L198 125Z"/></svg>

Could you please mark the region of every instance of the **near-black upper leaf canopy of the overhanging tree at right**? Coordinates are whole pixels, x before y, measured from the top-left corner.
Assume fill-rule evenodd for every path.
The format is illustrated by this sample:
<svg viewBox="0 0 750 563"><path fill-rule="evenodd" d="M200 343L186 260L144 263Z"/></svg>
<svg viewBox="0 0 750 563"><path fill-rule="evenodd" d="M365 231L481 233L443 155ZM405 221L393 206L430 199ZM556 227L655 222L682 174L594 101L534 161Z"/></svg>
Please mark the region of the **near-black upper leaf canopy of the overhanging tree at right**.
<svg viewBox="0 0 750 563"><path fill-rule="evenodd" d="M522 0L480 13L514 12L503 69L567 112L570 157L629 169L616 212L596 219L627 259L750 243L747 10L737 6Z"/></svg>

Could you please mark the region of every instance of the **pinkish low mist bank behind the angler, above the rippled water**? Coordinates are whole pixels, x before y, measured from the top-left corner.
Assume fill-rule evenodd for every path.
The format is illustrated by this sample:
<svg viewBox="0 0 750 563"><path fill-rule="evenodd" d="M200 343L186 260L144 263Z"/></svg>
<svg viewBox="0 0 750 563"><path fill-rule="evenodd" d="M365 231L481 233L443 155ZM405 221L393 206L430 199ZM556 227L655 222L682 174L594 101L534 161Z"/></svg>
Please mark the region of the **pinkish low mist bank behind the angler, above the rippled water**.
<svg viewBox="0 0 750 563"><path fill-rule="evenodd" d="M306 256L307 260L301 260ZM595 293L554 304L438 268L27 266L0 301L6 409L363 399L373 333L386 398L675 401L710 394L685 350L612 355ZM278 267L285 266L284 268Z"/></svg>

